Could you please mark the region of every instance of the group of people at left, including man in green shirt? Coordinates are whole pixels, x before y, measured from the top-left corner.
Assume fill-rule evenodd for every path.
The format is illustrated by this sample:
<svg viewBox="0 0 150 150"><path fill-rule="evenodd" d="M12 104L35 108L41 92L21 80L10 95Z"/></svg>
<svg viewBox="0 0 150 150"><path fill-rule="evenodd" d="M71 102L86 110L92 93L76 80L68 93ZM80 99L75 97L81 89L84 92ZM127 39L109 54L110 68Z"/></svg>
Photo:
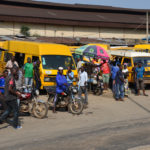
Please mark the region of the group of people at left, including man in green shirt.
<svg viewBox="0 0 150 150"><path fill-rule="evenodd" d="M0 123L6 121L11 112L13 112L13 121L9 121L15 129L22 128L18 117L19 117L19 97L21 92L20 87L25 85L30 88L25 88L26 93L31 93L31 87L33 79L35 80L35 88L40 89L40 61L31 61L31 58L27 58L27 63L20 68L18 63L15 61L15 57L12 56L7 62L3 74L0 75L0 105L4 112L0 116Z"/></svg>

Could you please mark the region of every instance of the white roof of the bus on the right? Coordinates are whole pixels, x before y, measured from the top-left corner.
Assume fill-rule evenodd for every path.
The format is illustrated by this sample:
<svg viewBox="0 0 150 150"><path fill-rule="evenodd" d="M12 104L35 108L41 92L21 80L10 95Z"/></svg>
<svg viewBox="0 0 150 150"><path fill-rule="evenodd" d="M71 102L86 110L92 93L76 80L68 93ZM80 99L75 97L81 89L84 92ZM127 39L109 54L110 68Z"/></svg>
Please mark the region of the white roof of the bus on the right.
<svg viewBox="0 0 150 150"><path fill-rule="evenodd" d="M150 53L145 52L135 52L133 50L117 50L117 51L110 51L110 55L114 56L125 56L125 57L150 57Z"/></svg>

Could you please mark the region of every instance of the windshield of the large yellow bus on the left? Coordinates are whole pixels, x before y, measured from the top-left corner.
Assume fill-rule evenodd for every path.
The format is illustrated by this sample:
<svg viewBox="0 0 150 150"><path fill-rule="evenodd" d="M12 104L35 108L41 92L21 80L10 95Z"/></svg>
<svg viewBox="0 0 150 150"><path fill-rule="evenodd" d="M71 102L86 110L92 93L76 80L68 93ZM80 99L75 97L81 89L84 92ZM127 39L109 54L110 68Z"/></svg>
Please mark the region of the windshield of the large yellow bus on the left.
<svg viewBox="0 0 150 150"><path fill-rule="evenodd" d="M57 70L58 67L63 67L65 70L72 67L75 70L75 64L71 56L64 55L43 55L42 56L43 69Z"/></svg>

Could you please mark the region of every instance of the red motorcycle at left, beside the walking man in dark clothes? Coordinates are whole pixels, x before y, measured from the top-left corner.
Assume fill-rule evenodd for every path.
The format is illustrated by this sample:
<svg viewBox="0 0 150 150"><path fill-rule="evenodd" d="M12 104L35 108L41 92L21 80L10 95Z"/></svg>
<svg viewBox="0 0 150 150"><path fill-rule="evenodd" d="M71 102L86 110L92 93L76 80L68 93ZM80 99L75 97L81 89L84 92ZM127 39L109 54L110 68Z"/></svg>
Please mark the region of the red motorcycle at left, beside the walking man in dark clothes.
<svg viewBox="0 0 150 150"><path fill-rule="evenodd" d="M24 93L26 88L31 88L31 93ZM32 116L43 119L47 116L48 107L47 104L38 99L39 91L34 90L32 87L22 86L19 90L22 94L19 97L20 100L20 112L29 112Z"/></svg>

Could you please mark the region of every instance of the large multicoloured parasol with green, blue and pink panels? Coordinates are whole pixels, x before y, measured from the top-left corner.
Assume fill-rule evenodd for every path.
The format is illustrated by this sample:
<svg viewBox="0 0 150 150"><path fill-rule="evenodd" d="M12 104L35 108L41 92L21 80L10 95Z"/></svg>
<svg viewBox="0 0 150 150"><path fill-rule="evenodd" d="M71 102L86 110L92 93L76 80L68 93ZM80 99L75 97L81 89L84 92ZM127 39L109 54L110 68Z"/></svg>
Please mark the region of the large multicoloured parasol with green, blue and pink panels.
<svg viewBox="0 0 150 150"><path fill-rule="evenodd" d="M109 55L106 50L97 45L85 45L75 51L78 55L88 56L88 57L97 57L100 59L109 59Z"/></svg>

